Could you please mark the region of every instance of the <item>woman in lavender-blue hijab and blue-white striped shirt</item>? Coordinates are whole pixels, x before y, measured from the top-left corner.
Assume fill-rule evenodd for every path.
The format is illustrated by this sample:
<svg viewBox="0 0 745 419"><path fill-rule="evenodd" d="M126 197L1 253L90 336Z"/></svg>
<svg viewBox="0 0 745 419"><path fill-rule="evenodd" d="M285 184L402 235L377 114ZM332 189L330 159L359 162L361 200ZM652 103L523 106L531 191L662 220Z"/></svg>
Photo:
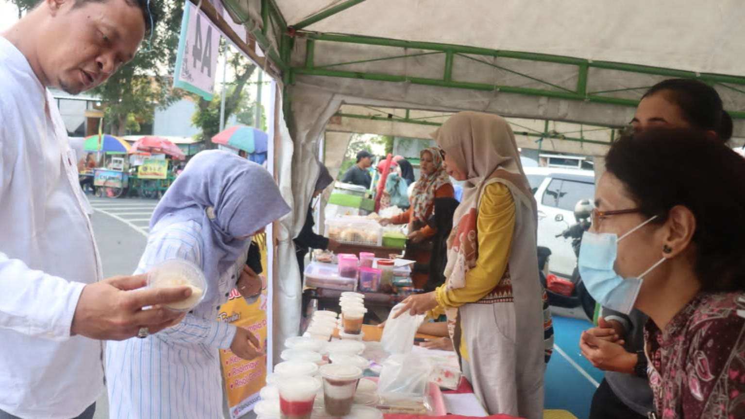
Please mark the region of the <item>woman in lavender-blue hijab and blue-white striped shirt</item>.
<svg viewBox="0 0 745 419"><path fill-rule="evenodd" d="M217 321L220 307L238 282L256 280L244 269L250 237L288 212L258 164L216 150L191 159L153 212L136 274L186 259L204 272L205 297L174 327L107 343L110 418L223 417L218 351L253 359L264 348L248 330Z"/></svg>

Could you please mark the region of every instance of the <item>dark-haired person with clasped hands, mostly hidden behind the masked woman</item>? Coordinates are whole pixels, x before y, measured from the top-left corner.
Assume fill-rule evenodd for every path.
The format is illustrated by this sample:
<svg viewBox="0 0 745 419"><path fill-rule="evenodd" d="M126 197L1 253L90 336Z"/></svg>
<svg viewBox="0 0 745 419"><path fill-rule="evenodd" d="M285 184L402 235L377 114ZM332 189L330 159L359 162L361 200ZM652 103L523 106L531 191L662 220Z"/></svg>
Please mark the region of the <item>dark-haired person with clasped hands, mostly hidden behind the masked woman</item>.
<svg viewBox="0 0 745 419"><path fill-rule="evenodd" d="M636 110L635 131L652 128L692 128L706 139L726 142L732 136L732 119L722 109L714 88L691 79L670 79L652 86ZM644 324L647 316L638 310L628 315L603 307L597 327L587 333L609 343L580 340L580 348L596 368L606 371L595 391L590 419L647 418L653 410L653 395L644 355Z"/></svg>

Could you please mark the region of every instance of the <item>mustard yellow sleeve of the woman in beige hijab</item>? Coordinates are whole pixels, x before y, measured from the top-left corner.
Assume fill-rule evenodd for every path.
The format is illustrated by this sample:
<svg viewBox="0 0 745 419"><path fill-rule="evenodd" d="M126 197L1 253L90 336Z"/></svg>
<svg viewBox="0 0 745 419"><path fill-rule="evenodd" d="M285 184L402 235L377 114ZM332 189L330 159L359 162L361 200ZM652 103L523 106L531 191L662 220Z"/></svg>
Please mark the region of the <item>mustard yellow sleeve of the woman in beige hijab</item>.
<svg viewBox="0 0 745 419"><path fill-rule="evenodd" d="M435 290L441 307L459 307L481 300L492 292L504 275L515 230L515 202L507 186L501 183L486 186L478 207L476 230L476 266L466 274L465 287L446 291L443 285Z"/></svg>

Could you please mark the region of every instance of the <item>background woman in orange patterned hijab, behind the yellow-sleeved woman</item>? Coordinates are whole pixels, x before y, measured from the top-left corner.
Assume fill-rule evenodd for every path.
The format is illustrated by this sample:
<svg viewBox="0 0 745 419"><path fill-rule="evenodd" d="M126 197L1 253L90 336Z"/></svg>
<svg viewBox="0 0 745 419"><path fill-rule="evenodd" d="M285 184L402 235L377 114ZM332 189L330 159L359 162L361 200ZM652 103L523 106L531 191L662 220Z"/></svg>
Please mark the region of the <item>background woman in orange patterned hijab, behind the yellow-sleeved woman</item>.
<svg viewBox="0 0 745 419"><path fill-rule="evenodd" d="M453 198L453 185L450 183L440 148L425 148L419 154L421 176L409 194L411 206L408 211L393 218L381 218L382 225L409 224L406 257L416 260L411 279L414 288L421 289L429 279L429 259L431 239L437 230L427 224L434 210L436 198Z"/></svg>

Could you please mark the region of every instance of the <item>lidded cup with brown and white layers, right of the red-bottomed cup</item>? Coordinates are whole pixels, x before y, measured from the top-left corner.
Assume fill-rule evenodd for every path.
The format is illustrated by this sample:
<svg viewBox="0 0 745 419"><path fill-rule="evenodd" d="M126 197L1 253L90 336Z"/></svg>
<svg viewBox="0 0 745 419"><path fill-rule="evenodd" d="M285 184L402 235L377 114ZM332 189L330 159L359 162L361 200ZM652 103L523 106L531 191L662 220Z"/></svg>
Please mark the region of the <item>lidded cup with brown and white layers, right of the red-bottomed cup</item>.
<svg viewBox="0 0 745 419"><path fill-rule="evenodd" d="M355 401L362 370L354 365L329 364L320 368L323 377L323 404L333 416L349 415Z"/></svg>

